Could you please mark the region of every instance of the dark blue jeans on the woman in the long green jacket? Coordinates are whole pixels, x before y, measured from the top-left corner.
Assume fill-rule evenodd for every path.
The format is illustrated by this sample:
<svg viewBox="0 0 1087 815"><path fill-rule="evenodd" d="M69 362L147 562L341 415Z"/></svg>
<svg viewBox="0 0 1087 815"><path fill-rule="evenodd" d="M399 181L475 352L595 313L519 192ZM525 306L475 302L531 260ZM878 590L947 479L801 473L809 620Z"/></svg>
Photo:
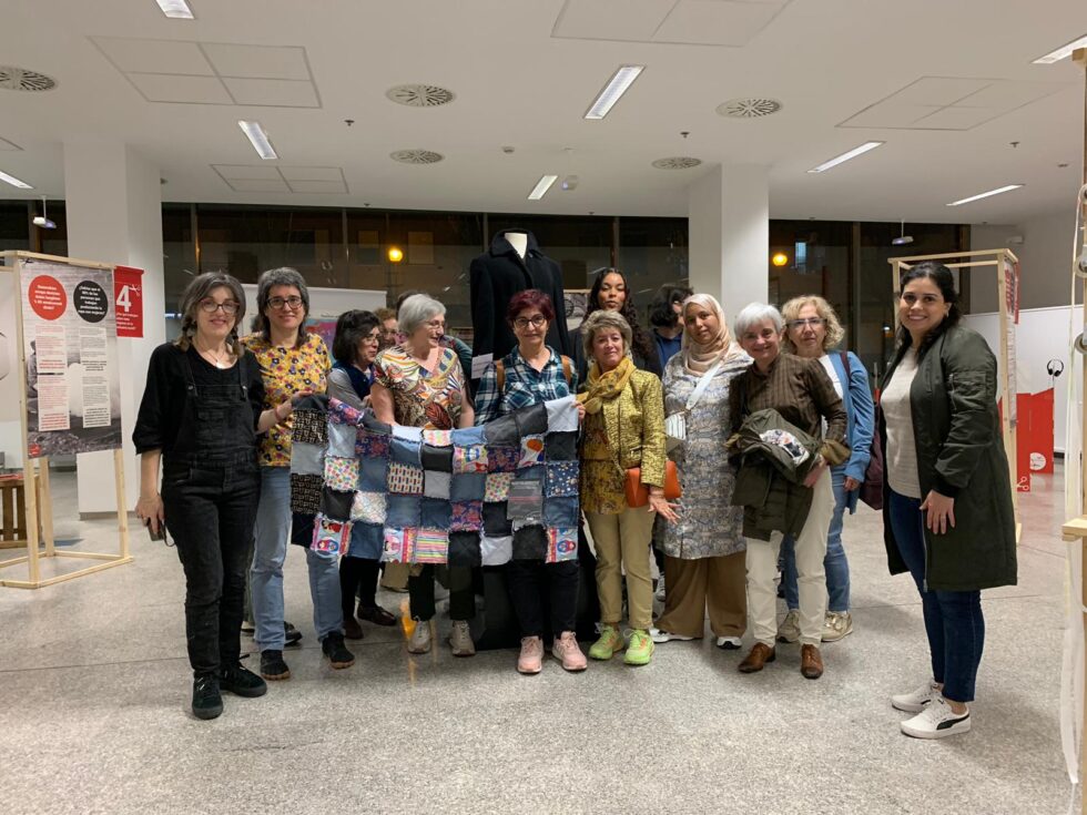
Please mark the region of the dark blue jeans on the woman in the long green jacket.
<svg viewBox="0 0 1087 815"><path fill-rule="evenodd" d="M925 588L925 529L921 500L891 491L891 529L910 568L925 614L932 675L953 702L973 702L977 666L985 645L979 591L928 591Z"/></svg>

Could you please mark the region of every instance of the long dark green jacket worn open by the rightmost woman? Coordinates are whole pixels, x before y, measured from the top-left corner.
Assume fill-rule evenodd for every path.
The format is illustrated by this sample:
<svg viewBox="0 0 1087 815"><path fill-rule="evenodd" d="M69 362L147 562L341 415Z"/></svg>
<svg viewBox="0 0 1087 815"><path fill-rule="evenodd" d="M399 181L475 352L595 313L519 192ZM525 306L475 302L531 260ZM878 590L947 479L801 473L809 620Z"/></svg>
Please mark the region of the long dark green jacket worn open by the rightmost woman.
<svg viewBox="0 0 1087 815"><path fill-rule="evenodd" d="M881 383L886 388L903 352ZM948 328L925 353L910 388L921 495L955 499L955 527L925 530L925 584L933 591L975 591L1014 585L1015 516L1008 460L996 405L996 358L979 334ZM880 411L880 438L887 444ZM883 478L883 538L892 574L906 571L891 528Z"/></svg>

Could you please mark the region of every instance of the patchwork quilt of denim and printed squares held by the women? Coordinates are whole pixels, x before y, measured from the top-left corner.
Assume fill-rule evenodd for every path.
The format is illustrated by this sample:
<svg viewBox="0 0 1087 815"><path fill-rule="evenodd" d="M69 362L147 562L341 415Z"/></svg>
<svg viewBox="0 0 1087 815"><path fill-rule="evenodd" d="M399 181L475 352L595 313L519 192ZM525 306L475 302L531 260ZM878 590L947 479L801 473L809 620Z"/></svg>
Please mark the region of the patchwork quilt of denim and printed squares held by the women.
<svg viewBox="0 0 1087 815"><path fill-rule="evenodd" d="M577 430L572 396L463 430L307 397L294 410L292 540L403 563L576 560Z"/></svg>

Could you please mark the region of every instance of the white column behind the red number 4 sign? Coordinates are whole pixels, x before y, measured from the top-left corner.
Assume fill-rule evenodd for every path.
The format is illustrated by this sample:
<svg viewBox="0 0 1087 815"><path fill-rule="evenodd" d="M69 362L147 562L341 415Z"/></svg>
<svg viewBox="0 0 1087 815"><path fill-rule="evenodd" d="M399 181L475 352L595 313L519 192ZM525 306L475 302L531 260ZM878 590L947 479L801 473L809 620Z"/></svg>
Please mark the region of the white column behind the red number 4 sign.
<svg viewBox="0 0 1087 815"><path fill-rule="evenodd" d="M121 142L64 143L68 255L143 269L143 337L118 340L125 502L135 507L140 469L132 428L143 396L148 360L165 339L162 267L162 193L159 169ZM112 454L77 456L81 517L115 511Z"/></svg>

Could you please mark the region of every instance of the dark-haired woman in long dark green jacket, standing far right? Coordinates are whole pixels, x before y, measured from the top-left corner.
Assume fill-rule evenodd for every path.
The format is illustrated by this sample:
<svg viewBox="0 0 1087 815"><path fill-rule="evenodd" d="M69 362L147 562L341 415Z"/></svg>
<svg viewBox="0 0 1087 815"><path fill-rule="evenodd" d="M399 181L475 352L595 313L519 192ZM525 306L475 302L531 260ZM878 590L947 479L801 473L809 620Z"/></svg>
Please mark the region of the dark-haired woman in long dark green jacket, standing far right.
<svg viewBox="0 0 1087 815"><path fill-rule="evenodd" d="M898 350L883 378L884 540L891 572L921 592L932 679L891 697L902 732L971 729L985 640L981 590L1016 581L1012 487L996 405L996 358L959 325L951 271L921 263L902 279Z"/></svg>

